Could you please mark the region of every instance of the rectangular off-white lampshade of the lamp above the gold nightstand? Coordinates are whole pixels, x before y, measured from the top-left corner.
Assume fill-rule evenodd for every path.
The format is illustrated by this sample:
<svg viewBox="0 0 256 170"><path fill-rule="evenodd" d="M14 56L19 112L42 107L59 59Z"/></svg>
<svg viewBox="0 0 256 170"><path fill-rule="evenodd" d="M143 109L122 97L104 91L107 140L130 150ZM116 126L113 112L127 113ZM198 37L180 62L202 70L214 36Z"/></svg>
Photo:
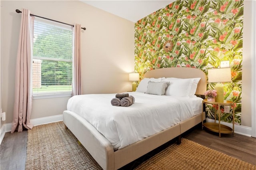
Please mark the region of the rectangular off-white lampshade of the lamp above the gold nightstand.
<svg viewBox="0 0 256 170"><path fill-rule="evenodd" d="M230 82L231 81L231 69L208 69L208 82Z"/></svg>

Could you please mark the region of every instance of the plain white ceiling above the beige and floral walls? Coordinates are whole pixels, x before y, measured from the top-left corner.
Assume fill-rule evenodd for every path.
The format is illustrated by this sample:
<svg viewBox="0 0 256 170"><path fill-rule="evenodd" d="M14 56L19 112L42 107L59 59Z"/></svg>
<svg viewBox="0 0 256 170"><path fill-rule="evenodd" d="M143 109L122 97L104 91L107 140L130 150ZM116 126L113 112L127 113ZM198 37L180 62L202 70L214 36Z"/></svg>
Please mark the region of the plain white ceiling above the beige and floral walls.
<svg viewBox="0 0 256 170"><path fill-rule="evenodd" d="M82 2L132 22L148 16L174 0L81 0Z"/></svg>

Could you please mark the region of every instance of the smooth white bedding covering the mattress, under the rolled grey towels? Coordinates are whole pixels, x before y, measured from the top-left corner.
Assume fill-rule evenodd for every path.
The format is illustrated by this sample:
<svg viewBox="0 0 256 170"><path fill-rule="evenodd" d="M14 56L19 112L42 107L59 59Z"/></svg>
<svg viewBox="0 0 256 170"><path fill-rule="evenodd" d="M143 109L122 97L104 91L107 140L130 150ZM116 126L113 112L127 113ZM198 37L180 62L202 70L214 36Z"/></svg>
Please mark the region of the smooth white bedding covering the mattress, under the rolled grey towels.
<svg viewBox="0 0 256 170"><path fill-rule="evenodd" d="M68 100L67 105L69 111L77 113L102 133L114 150L176 125L201 113L202 109L202 99L199 97L171 97L139 92L129 92L135 98L133 105L117 107L110 103L115 95L76 95Z"/></svg>

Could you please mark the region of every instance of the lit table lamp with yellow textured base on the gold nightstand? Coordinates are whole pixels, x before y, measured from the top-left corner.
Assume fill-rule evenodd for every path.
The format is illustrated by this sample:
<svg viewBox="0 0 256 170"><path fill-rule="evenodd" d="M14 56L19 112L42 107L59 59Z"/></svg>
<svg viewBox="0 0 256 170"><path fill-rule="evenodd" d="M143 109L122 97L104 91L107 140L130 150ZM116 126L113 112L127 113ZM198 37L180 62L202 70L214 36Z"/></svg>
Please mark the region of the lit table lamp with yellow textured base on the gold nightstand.
<svg viewBox="0 0 256 170"><path fill-rule="evenodd" d="M217 96L215 98L216 102L224 102L224 86L222 82L231 81L231 69L230 68L218 68L218 69L208 69L208 82L217 82L214 89L217 91Z"/></svg>

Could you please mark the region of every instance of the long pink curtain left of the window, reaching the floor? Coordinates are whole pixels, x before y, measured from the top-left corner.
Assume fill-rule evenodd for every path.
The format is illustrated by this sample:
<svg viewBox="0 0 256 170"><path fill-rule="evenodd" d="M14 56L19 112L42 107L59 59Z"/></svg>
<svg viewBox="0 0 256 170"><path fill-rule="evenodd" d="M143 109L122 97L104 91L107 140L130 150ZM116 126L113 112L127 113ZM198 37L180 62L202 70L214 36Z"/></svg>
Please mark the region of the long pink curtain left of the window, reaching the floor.
<svg viewBox="0 0 256 170"><path fill-rule="evenodd" d="M33 128L30 123L32 111L32 35L33 17L30 16L29 10L22 9L11 133L16 130L17 126L18 132L22 132L22 125L27 129Z"/></svg>

